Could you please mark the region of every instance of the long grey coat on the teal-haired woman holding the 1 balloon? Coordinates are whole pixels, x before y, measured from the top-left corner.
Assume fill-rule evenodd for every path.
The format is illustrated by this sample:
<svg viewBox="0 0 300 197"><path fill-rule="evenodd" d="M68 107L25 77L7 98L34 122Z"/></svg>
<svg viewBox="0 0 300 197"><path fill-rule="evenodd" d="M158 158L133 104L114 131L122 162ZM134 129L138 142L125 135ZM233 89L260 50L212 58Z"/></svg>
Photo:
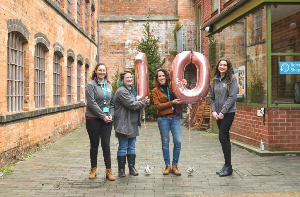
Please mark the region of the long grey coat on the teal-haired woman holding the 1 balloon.
<svg viewBox="0 0 300 197"><path fill-rule="evenodd" d="M131 113L134 113L135 110L137 110L137 124L138 126L141 126L140 109L145 107L147 103L148 101L146 98L142 101L134 101L134 97L131 94L131 87L126 85L119 87L115 94L115 131L124 135L133 134L134 128L131 122Z"/></svg>

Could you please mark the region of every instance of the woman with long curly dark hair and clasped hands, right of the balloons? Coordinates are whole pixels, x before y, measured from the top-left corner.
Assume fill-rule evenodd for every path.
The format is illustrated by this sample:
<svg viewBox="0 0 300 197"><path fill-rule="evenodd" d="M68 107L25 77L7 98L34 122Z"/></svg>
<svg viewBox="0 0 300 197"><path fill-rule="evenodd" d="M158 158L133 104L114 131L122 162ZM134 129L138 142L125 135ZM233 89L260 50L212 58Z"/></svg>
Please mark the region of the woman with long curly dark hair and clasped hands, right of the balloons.
<svg viewBox="0 0 300 197"><path fill-rule="evenodd" d="M210 107L219 128L219 141L222 146L225 164L216 174L228 176L232 174L231 144L229 129L236 111L236 96L238 83L236 81L232 63L226 57L218 60L214 71L214 79L210 91Z"/></svg>

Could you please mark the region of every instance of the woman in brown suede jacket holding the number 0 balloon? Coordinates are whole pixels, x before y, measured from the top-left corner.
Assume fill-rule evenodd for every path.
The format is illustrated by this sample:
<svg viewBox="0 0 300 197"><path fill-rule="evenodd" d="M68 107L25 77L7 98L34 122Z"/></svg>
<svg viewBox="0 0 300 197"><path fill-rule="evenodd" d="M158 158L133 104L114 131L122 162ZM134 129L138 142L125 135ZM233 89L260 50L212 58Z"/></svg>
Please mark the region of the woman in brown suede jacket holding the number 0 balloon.
<svg viewBox="0 0 300 197"><path fill-rule="evenodd" d="M154 85L156 87L154 88L152 95L154 105L157 109L157 123L161 133L161 147L166 165L163 174L168 175L171 172L174 175L181 175L177 168L177 164L181 150L181 120L179 113L183 111L183 101L173 95L169 81L169 73L165 69L159 69L155 73ZM183 84L186 85L185 79L183 79ZM170 130L174 143L172 169L169 151Z"/></svg>

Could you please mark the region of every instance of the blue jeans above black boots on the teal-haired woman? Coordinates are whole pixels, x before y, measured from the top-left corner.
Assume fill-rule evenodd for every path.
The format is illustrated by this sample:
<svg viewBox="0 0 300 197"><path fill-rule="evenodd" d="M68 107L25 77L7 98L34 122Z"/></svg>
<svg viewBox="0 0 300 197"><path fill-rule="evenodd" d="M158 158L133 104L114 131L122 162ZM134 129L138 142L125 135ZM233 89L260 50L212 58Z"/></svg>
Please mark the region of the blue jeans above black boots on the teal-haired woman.
<svg viewBox="0 0 300 197"><path fill-rule="evenodd" d="M119 137L119 148L117 156L125 156L127 154L135 154L135 141L137 137L121 138Z"/></svg>

